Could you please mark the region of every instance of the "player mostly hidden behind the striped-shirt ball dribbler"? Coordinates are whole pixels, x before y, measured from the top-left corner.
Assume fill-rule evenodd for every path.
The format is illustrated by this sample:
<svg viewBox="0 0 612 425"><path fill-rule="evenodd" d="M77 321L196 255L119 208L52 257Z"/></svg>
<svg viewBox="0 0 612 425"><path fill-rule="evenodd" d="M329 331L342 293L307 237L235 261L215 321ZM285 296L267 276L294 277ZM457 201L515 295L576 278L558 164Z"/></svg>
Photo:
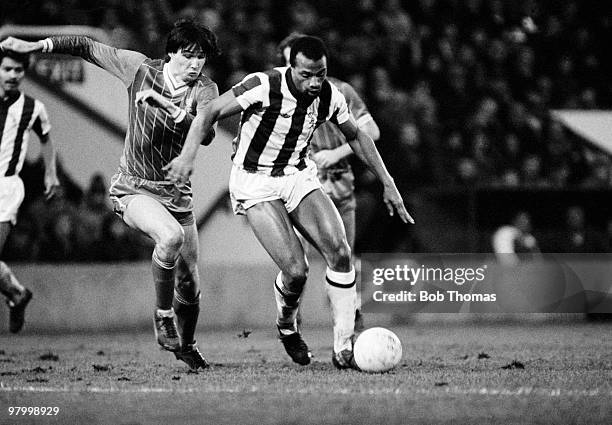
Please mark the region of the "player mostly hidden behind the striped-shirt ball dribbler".
<svg viewBox="0 0 612 425"><path fill-rule="evenodd" d="M279 53L286 66L291 65L289 63L291 44L304 35L292 33L278 45ZM347 82L337 78L327 77L327 79L344 95L349 112L359 129L376 142L380 138L380 129L355 89ZM344 134L330 122L324 122L314 132L310 141L310 149L310 158L317 164L323 191L331 198L340 213L346 239L351 247L351 252L353 252L355 248L355 208L357 201L355 199L355 175L348 160L353 150L347 143ZM364 325L359 294L357 294L355 300L355 307L355 330L361 331ZM298 327L301 321L301 313L298 311Z"/></svg>

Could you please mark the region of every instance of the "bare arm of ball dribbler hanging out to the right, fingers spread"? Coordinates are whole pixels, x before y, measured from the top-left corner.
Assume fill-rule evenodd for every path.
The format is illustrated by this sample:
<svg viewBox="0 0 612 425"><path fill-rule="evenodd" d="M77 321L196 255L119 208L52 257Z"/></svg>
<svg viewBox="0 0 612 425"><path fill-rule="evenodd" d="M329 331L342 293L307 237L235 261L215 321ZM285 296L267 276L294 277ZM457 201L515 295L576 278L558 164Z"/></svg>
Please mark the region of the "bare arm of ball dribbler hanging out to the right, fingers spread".
<svg viewBox="0 0 612 425"><path fill-rule="evenodd" d="M387 171L387 167L383 162L376 145L370 136L359 130L352 119L339 125L340 130L348 140L355 154L361 159L378 177L383 184L383 200L389 215L393 215L397 211L399 217L404 223L414 224L414 219L410 216L404 205L402 195L397 190L393 178Z"/></svg>

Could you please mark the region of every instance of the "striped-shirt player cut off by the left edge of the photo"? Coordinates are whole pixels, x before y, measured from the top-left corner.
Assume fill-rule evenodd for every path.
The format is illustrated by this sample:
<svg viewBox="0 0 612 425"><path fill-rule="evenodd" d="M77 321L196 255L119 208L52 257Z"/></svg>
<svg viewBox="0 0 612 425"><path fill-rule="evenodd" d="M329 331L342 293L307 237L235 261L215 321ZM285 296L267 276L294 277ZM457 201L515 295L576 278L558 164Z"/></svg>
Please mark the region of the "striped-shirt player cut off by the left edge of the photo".
<svg viewBox="0 0 612 425"><path fill-rule="evenodd" d="M51 124L45 105L19 89L28 65L27 55L0 49L0 255L25 196L19 172L32 131L40 140L45 163L45 197L51 198L59 185L56 151L49 136ZM3 261L0 261L0 292L9 306L9 330L17 333L23 327L32 292L19 283Z"/></svg>

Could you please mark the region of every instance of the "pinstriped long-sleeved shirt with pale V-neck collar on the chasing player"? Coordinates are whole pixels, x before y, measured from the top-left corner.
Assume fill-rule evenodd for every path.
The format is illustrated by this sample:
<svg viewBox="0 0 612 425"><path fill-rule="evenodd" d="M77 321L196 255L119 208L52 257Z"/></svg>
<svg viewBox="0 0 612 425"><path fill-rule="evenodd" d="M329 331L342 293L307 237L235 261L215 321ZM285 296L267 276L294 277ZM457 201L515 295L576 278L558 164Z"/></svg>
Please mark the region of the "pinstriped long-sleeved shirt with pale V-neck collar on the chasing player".
<svg viewBox="0 0 612 425"><path fill-rule="evenodd" d="M179 83L162 59L116 49L82 36L51 37L52 51L80 56L119 78L129 95L129 120L119 171L146 180L165 181L166 164L181 153L189 126L204 105L219 95L207 76ZM185 113L175 120L161 108L136 105L136 93L153 89ZM207 138L213 137L211 132Z"/></svg>

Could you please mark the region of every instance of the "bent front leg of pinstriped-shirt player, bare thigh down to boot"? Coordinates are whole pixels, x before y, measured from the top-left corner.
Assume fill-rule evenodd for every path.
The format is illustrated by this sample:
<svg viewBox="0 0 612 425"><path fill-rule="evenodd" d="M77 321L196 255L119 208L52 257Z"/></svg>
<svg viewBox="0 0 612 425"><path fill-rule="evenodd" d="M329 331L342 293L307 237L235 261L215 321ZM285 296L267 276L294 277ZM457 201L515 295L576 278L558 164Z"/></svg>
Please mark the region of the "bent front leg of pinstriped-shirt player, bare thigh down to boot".
<svg viewBox="0 0 612 425"><path fill-rule="evenodd" d="M183 227L155 199L135 196L123 214L128 226L141 230L155 241L151 261L157 309L157 342L165 350L178 351L180 341L174 322L174 277L176 262L185 239Z"/></svg>

